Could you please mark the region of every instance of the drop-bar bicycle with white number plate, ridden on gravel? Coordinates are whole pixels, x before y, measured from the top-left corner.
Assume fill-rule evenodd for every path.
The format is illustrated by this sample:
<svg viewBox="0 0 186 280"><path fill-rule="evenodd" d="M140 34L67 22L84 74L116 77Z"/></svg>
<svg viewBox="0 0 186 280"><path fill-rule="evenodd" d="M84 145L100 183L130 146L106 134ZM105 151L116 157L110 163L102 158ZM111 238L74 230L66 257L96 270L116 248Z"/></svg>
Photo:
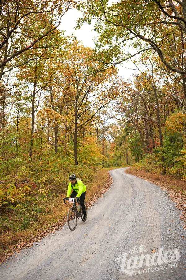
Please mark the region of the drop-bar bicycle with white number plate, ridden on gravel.
<svg viewBox="0 0 186 280"><path fill-rule="evenodd" d="M65 198L63 199L63 202L64 204L67 205L67 203L65 202ZM86 208L86 219L83 220L83 210L82 210L82 207L81 207L81 204L80 204L80 210L78 211L78 208L76 206L76 203L77 203L77 199L75 198L69 198L69 203L73 203L73 206L70 207L69 209L69 212L68 212L68 215L67 215L67 224L69 226L69 229L71 231L74 231L76 226L77 226L77 222L78 222L78 219L81 217L82 221L85 222L86 219L87 219L87 204L86 202L84 202L85 204L85 208Z"/></svg>

